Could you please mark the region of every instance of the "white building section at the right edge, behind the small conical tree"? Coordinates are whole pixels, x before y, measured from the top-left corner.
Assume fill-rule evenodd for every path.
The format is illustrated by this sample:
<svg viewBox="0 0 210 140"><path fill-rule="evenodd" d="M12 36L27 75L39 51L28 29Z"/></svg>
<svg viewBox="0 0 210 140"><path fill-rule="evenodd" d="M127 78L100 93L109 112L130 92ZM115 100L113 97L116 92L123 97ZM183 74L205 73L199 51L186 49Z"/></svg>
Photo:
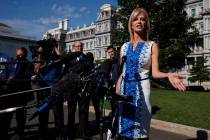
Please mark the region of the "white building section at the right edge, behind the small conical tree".
<svg viewBox="0 0 210 140"><path fill-rule="evenodd" d="M186 12L188 16L196 19L195 27L200 34L198 42L192 46L192 53L186 59L183 73L187 76L187 79L190 69L198 57L206 58L207 62L205 65L208 65L210 68L210 0L188 0ZM197 83L190 83L187 80L185 83L188 85L198 85ZM204 82L203 86L210 89L210 82Z"/></svg>

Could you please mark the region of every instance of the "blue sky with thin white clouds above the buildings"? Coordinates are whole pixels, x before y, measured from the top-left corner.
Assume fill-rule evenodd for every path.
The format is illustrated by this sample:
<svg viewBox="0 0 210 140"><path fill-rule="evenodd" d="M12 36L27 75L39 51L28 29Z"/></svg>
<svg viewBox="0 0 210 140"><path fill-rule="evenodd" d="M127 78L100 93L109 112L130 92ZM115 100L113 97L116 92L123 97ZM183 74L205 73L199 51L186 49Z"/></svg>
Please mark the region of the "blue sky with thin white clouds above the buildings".
<svg viewBox="0 0 210 140"><path fill-rule="evenodd" d="M0 22L39 40L62 19L69 19L70 28L95 22L106 3L117 7L117 0L0 0Z"/></svg>

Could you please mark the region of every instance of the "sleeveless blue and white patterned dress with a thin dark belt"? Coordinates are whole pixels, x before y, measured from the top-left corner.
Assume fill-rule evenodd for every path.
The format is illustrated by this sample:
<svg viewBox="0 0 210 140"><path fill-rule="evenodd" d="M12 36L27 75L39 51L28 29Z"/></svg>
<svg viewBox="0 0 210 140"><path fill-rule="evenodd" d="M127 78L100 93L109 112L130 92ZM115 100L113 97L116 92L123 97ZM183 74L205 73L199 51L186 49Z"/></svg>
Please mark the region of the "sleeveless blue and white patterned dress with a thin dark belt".
<svg viewBox="0 0 210 140"><path fill-rule="evenodd" d="M122 46L126 56L120 94L132 96L133 102L119 102L119 134L128 139L147 138L151 121L150 66L152 41L139 42L135 50L131 42Z"/></svg>

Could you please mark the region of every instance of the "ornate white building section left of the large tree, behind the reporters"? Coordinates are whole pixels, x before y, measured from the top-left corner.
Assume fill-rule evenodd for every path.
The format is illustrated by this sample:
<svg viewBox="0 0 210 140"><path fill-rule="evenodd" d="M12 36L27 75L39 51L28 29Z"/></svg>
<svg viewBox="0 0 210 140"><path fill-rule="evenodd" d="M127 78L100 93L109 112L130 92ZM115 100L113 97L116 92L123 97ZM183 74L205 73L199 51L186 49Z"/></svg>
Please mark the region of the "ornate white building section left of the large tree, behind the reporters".
<svg viewBox="0 0 210 140"><path fill-rule="evenodd" d="M106 48L112 45L112 29L117 26L117 22L112 20L115 12L111 4L104 4L94 23L68 29L69 21L65 19L59 21L58 28L48 30L44 38L54 37L66 53L72 49L75 41L81 41L84 43L84 52L92 52L95 60L103 60L107 58Z"/></svg>

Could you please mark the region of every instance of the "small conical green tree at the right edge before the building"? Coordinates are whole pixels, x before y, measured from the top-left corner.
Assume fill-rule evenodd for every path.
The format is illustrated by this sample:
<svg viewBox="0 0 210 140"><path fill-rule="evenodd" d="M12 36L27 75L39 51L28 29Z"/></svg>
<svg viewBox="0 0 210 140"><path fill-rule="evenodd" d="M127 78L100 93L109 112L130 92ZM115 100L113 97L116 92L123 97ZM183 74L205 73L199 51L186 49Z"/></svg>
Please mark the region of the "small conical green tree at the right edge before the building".
<svg viewBox="0 0 210 140"><path fill-rule="evenodd" d="M201 86L202 82L210 81L210 70L205 65L206 62L207 60L203 57L197 58L195 65L190 70L190 77L188 78L190 82L198 81L198 84Z"/></svg>

